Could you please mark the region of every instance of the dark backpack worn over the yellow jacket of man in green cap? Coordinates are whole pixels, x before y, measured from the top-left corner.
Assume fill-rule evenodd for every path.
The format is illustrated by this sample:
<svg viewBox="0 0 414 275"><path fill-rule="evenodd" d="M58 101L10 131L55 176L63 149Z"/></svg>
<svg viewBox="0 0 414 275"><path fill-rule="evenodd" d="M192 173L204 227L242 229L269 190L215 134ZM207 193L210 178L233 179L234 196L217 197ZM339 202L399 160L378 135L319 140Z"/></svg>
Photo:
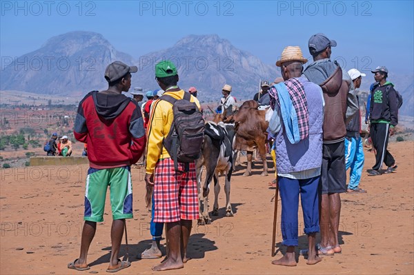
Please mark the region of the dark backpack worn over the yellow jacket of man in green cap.
<svg viewBox="0 0 414 275"><path fill-rule="evenodd" d="M199 158L204 141L203 114L194 102L190 102L191 95L188 92L184 92L183 99L175 99L168 94L159 99L172 104L174 118L163 145L174 161L175 171L179 172L178 162L191 163ZM188 165L185 170L188 171Z"/></svg>

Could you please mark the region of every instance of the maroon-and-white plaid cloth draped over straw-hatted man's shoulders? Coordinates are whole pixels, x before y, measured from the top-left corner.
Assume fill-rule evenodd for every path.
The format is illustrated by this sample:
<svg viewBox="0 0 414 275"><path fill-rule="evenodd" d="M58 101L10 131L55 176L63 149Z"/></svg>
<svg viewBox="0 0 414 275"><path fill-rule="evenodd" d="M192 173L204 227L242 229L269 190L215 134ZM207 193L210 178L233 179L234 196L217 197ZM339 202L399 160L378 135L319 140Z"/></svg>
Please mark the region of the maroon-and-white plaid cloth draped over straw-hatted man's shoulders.
<svg viewBox="0 0 414 275"><path fill-rule="evenodd" d="M297 124L299 128L300 140L304 140L309 135L309 113L308 113L308 101L306 101L306 94L304 85L296 78L288 79L284 81L286 88L289 92L290 100L292 101L293 108L295 108L297 114ZM270 107L275 110L275 103L280 106L279 96L277 90L273 85L270 90Z"/></svg>

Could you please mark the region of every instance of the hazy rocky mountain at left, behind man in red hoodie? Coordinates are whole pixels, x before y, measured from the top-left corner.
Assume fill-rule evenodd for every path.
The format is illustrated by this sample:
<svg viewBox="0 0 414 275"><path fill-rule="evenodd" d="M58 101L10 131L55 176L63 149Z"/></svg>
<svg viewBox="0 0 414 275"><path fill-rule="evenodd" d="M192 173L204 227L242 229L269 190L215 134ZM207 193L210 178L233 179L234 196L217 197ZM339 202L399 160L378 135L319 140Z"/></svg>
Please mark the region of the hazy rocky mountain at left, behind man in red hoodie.
<svg viewBox="0 0 414 275"><path fill-rule="evenodd" d="M1 72L1 90L38 94L81 95L106 87L106 65L113 61L134 63L101 34L68 32L15 59Z"/></svg>

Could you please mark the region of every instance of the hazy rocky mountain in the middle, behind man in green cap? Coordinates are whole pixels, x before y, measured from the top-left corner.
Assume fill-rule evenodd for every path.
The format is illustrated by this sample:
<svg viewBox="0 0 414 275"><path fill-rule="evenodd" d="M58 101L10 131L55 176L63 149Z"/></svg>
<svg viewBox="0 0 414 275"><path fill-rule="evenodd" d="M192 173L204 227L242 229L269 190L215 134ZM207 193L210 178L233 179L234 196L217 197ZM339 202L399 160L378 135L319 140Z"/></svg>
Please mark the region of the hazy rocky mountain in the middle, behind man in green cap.
<svg viewBox="0 0 414 275"><path fill-rule="evenodd" d="M235 48L227 39L190 35L171 48L139 57L139 73L132 83L157 88L155 64L164 59L177 65L181 88L195 86L201 99L209 101L218 101L226 83L233 87L233 95L238 99L253 99L260 79L271 82L280 76L275 65L265 64L253 54Z"/></svg>

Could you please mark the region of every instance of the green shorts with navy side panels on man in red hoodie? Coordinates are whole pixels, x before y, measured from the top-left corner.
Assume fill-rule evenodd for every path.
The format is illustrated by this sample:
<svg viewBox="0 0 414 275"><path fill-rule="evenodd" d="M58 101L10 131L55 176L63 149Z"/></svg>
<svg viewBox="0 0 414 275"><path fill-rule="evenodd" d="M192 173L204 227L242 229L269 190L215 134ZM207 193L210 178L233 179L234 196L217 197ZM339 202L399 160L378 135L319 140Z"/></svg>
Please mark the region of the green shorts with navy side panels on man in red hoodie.
<svg viewBox="0 0 414 275"><path fill-rule="evenodd" d="M110 190L112 218L132 218L132 183L130 167L89 168L86 177L85 221L103 221L106 189Z"/></svg>

